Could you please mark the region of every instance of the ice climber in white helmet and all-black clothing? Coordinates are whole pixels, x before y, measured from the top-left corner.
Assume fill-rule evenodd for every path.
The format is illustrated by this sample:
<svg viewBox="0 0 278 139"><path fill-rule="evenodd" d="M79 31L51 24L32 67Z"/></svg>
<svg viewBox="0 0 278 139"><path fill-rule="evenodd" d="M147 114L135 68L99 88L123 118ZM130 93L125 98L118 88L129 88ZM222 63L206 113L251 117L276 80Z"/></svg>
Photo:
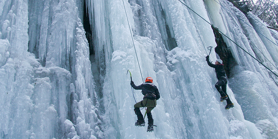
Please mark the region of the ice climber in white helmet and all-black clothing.
<svg viewBox="0 0 278 139"><path fill-rule="evenodd" d="M226 79L226 73L224 70L224 64L222 64L222 60L221 59L217 59L215 61L215 64L212 64L210 62L210 57L206 56L206 61L207 64L210 67L215 68L215 72L216 72L216 77L218 79L218 82L215 84L215 88L217 89L217 91L220 93L221 97L220 97L220 101L227 101L227 105L225 107L225 109L230 109L231 107L234 107L234 104L232 103L232 101L230 100L230 97L228 96L226 90L227 90L227 79ZM221 88L220 88L221 87Z"/></svg>

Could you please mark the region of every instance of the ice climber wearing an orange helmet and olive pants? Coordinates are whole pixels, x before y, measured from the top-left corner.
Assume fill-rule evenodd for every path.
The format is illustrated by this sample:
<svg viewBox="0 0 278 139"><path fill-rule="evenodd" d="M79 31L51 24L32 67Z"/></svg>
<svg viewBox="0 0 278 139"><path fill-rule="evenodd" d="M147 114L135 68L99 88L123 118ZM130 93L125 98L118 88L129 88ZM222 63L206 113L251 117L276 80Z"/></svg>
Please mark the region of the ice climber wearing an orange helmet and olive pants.
<svg viewBox="0 0 278 139"><path fill-rule="evenodd" d="M134 85L133 81L130 81L130 85L136 90L142 90L142 94L144 95L143 100L134 105L134 111L138 118L137 122L135 123L135 126L145 126L145 120L140 111L140 107L147 107L146 110L147 117L148 117L147 131L152 132L154 120L152 119L151 110L154 109L154 107L156 106L156 100L160 98L159 91L157 87L152 83L151 77L147 77L145 83L143 83L142 85L136 86Z"/></svg>

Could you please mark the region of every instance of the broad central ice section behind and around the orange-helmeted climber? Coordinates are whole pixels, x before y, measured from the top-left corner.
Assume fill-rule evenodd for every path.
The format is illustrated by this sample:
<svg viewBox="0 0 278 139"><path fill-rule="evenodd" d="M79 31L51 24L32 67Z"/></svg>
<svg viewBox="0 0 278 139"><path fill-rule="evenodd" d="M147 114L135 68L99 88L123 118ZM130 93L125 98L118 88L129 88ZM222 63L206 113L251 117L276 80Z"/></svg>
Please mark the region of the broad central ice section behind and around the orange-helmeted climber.
<svg viewBox="0 0 278 139"><path fill-rule="evenodd" d="M203 1L185 2L209 20ZM132 113L134 101L130 89L126 87L129 84L129 77L125 75L125 71L127 69L132 71L133 80L137 85L142 83L140 71L132 48L132 38L122 1L108 3L110 6L107 6L109 5L107 3L97 5L97 7L111 7L105 13L109 16L109 22L105 23L110 25L110 32L100 35L111 38L113 48L111 60L106 59L106 54L109 55L110 52L105 52L105 47L109 45L99 47L104 48L106 65L109 65L106 66L103 89L103 98L108 100L104 101L104 117L107 118L104 121L109 123L105 126L107 138L139 136L134 131L140 132L141 138L262 138L256 126L244 120L240 105L237 104L230 89L228 94L236 107L226 111L223 109L225 104L218 102L219 95L213 88L216 82L215 75L212 69L206 66L203 58L205 48L196 28L205 46L216 46L214 35L210 25L188 11L179 1L129 1L129 3L124 1L139 64L143 69L142 75L154 78L154 83L157 84L162 96L152 112L154 123L158 125L155 132L149 134L144 132L146 129L134 127L131 123L132 119L136 121L136 116ZM192 19L189 13L192 14ZM223 16L224 19L229 18L227 15ZM228 30L228 24L224 23L221 27ZM97 26L97 23L94 25L95 30L104 27L101 24ZM232 36L233 33L229 34ZM243 32L240 35L244 35ZM178 46L171 51L165 50L167 44L164 40L169 36L175 38ZM239 58L238 48L234 46L233 49L238 61L242 60ZM212 53L212 58L216 59L215 53ZM123 77L126 81L122 81ZM142 99L140 92L136 92L135 98L137 101ZM174 134L169 131L171 133L174 131Z"/></svg>

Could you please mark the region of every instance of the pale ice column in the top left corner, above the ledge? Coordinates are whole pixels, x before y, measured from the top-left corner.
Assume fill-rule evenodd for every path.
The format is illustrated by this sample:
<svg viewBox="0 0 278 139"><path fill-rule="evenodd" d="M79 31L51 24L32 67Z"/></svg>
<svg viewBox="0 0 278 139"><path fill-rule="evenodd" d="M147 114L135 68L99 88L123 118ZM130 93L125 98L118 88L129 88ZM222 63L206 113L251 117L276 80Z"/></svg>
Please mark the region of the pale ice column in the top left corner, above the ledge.
<svg viewBox="0 0 278 139"><path fill-rule="evenodd" d="M0 6L1 38L9 40L12 57L22 56L28 50L28 0L1 1Z"/></svg>

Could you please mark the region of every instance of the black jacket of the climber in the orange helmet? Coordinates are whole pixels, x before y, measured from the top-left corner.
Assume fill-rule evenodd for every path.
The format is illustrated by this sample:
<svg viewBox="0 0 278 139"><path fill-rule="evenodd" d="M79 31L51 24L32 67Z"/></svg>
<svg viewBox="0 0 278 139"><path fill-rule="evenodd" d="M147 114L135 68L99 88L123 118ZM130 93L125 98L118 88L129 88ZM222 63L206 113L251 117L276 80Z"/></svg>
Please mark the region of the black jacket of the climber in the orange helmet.
<svg viewBox="0 0 278 139"><path fill-rule="evenodd" d="M153 83L143 83L142 85L136 86L131 85L136 90L142 90L142 94L145 96L148 93L153 93L156 96L156 100L160 98L160 93L157 87Z"/></svg>

